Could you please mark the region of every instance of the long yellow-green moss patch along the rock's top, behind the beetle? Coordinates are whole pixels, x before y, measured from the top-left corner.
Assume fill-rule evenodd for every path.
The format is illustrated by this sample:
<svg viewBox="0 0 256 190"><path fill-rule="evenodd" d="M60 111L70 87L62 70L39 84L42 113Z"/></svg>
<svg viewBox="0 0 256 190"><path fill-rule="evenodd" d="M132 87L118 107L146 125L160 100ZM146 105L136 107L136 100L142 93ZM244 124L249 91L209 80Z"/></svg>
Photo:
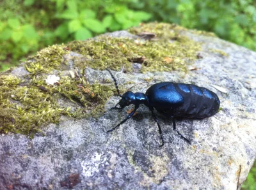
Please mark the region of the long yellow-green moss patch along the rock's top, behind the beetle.
<svg viewBox="0 0 256 190"><path fill-rule="evenodd" d="M199 43L181 36L184 28L174 24L144 24L129 29L130 33L148 32L156 34L153 40L132 40L100 36L87 41L73 41L67 47L84 57L75 62L79 68L111 68L131 70L132 62L142 64L141 71L187 71L187 64L195 61Z"/></svg>

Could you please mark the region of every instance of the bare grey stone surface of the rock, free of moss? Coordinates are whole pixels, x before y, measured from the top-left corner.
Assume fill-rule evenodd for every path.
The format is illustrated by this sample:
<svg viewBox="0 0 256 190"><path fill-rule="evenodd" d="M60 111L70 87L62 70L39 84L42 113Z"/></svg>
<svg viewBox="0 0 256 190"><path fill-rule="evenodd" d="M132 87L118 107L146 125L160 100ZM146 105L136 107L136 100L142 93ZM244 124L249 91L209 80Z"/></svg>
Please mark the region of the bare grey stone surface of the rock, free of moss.
<svg viewBox="0 0 256 190"><path fill-rule="evenodd" d="M133 38L125 31L110 35ZM139 84L132 88L134 92L145 92L161 81L196 84L216 92L223 108L216 115L177 121L180 133L192 145L172 130L170 119L157 114L166 142L159 148L157 125L145 106L120 128L106 133L131 109L109 110L119 99L113 96L99 119L61 117L60 124L43 129L45 136L38 134L32 140L19 134L1 135L1 189L240 187L256 157L256 53L210 36L189 31L182 35L202 43L201 59L188 74L113 73L125 89L133 85L131 81ZM22 67L12 74L28 75ZM107 71L91 68L84 75L92 83L111 80ZM141 83L147 78L153 79Z"/></svg>

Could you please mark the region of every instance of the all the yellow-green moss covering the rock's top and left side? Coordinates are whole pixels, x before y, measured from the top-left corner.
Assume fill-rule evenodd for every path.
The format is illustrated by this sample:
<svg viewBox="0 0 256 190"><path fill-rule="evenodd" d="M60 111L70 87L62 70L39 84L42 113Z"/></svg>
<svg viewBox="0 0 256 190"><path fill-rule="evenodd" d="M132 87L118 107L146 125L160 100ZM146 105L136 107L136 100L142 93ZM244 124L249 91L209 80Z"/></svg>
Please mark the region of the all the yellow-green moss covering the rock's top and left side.
<svg viewBox="0 0 256 190"><path fill-rule="evenodd" d="M174 24L144 24L129 29L130 33L154 33L156 38L134 40L99 36L41 50L24 64L31 73L28 77L20 80L10 71L0 75L0 133L11 131L33 136L40 127L60 122L61 115L99 116L108 98L116 92L115 85L112 81L107 85L89 84L83 77L86 67L131 71L132 62L140 62L141 72L187 71L187 65L196 60L200 44L182 36L180 33L184 30ZM83 56L73 59L70 55L64 59L63 55L70 50ZM67 61L73 61L74 67L82 73L61 77L54 85L46 84L47 74L54 71L55 75L60 75L62 71L68 73L74 69ZM65 99L67 105L61 104L59 99ZM70 103L76 106L71 108Z"/></svg>

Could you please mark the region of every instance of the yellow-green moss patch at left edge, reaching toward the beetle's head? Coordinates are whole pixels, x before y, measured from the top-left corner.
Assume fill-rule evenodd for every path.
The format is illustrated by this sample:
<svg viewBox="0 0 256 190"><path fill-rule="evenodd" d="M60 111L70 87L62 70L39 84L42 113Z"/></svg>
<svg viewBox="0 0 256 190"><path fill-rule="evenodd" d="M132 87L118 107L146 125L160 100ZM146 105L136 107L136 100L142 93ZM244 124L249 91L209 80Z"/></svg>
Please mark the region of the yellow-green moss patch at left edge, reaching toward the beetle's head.
<svg viewBox="0 0 256 190"><path fill-rule="evenodd" d="M12 75L0 76L0 133L22 133L33 136L45 124L58 123L61 115L94 117L102 113L107 99L113 95L108 86L90 85L83 78L61 78L58 85L47 85L44 77L24 82ZM61 106L63 95L78 101L81 108ZM78 106L79 107L79 106Z"/></svg>

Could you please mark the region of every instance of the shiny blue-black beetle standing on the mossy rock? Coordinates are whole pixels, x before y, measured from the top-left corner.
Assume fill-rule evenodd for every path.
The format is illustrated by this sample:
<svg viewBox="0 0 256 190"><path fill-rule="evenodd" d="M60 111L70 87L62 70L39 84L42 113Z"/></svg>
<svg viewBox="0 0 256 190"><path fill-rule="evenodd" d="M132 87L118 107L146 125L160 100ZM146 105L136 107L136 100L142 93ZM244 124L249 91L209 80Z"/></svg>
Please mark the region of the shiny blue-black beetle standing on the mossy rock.
<svg viewBox="0 0 256 190"><path fill-rule="evenodd" d="M217 94L209 89L198 87L193 84L159 82L149 87L145 94L142 92L134 93L127 91L121 95L116 78L109 69L107 69L107 71L115 82L118 96L121 97L120 101L115 107L112 107L111 110L122 110L125 106L131 104L134 105L132 112L129 113L123 121L117 124L115 128L109 129L107 133L114 131L120 125L124 124L124 122L134 115L140 105L143 104L149 108L154 121L157 123L161 138L161 145L159 145L159 147L164 145L164 140L162 129L154 113L154 109L156 109L157 112L172 118L173 130L177 131L182 139L191 144L191 142L176 129L175 118L185 117L189 119L204 119L216 114L220 108L220 99Z"/></svg>

